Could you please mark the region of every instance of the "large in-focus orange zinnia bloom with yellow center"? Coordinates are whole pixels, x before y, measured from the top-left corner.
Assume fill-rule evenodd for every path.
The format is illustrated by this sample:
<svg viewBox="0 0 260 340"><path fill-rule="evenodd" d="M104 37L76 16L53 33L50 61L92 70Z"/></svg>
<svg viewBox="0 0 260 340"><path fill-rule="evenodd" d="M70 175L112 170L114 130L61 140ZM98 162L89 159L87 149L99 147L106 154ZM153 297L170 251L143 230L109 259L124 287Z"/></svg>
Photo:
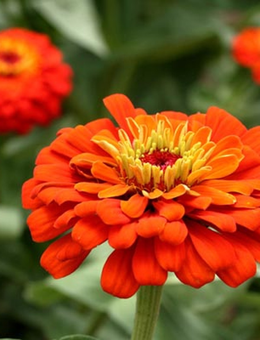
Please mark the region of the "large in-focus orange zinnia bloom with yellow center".
<svg viewBox="0 0 260 340"><path fill-rule="evenodd" d="M118 122L62 129L36 159L23 206L53 277L108 241L101 275L118 297L163 285L168 272L198 288L218 275L236 287L260 259L260 127L217 107L147 115L123 95L104 99Z"/></svg>

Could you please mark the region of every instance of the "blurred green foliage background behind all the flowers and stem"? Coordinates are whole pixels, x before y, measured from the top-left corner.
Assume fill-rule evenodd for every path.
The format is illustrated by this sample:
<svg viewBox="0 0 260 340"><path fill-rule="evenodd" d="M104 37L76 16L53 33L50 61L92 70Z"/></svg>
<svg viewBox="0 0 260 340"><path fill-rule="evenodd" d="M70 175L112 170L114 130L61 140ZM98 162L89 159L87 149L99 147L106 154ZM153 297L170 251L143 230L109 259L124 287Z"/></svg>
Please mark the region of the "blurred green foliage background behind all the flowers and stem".
<svg viewBox="0 0 260 340"><path fill-rule="evenodd" d="M108 116L102 99L115 92L150 113L217 105L259 125L260 87L230 54L247 26L260 26L259 0L0 0L0 29L48 34L74 71L60 119L0 136L0 338L129 339L135 298L113 298L99 284L108 246L74 274L50 278L39 265L47 244L32 242L26 226L21 185L59 128ZM196 290L170 276L155 340L173 339L259 340L260 272L237 289L215 281Z"/></svg>

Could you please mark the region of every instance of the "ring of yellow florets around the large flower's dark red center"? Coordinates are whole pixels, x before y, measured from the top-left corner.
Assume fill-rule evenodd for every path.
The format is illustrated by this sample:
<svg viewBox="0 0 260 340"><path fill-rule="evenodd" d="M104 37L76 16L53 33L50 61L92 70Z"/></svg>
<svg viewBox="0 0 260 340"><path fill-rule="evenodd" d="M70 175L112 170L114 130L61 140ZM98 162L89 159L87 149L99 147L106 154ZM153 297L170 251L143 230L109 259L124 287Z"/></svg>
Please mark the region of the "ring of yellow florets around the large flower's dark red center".
<svg viewBox="0 0 260 340"><path fill-rule="evenodd" d="M119 155L116 157L122 177L126 177L128 183L136 182L142 189L169 191L179 183L191 186L211 171L206 162L215 143L210 141L208 127L192 132L188 131L188 122L181 122L173 129L171 122L166 117L160 120L159 115L156 116L156 128L150 133L146 125L138 125L132 118L128 119L128 124L135 139L131 143L125 131L119 130ZM144 155L152 155L155 151L177 156L175 164L162 169L143 162Z"/></svg>

